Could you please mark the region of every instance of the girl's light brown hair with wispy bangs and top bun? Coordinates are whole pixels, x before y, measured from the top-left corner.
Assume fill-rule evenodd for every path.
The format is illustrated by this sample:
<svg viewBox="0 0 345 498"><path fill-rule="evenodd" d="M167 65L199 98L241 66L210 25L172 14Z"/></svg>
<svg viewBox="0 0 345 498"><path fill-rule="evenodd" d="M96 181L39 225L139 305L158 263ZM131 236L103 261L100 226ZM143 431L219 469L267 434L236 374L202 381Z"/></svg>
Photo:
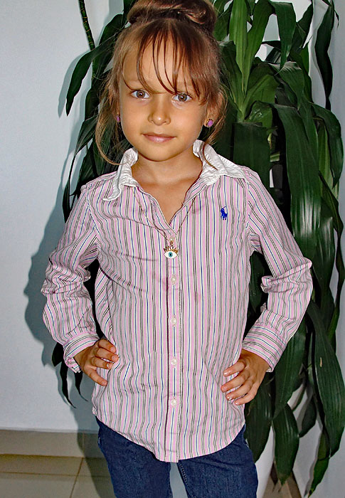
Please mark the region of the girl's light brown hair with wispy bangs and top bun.
<svg viewBox="0 0 345 498"><path fill-rule="evenodd" d="M223 127L227 97L221 83L221 56L218 42L213 37L216 11L208 0L138 0L130 9L124 28L117 38L112 57L112 68L102 92L100 112L96 125L96 143L101 156L110 164L119 164L107 154L122 149L120 124L115 114L120 109L119 82L123 78L124 59L133 47L137 47L137 75L145 88L151 90L142 74L142 57L152 45L152 57L157 78L171 93L177 93L177 78L182 67L189 74L193 90L202 104L216 109L217 117L205 144L212 144ZM158 72L157 56L161 45L172 44L173 75L171 89L166 88ZM165 67L164 67L165 68ZM166 68L165 68L166 69ZM110 142L113 142L112 150ZM107 151L103 150L104 144ZM124 152L124 150L122 150Z"/></svg>

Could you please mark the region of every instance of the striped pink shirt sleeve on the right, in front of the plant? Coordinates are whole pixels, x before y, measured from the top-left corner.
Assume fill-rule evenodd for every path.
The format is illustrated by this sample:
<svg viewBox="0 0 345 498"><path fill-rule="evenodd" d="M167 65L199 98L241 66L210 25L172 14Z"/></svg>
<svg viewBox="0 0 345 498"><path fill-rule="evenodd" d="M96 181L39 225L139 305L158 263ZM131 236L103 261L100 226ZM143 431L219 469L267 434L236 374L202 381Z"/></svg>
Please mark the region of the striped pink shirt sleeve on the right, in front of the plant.
<svg viewBox="0 0 345 498"><path fill-rule="evenodd" d="M268 371L272 371L307 309L312 293L312 263L303 257L258 174L248 169L246 172L251 251L264 255L272 275L262 277L267 302L242 345L265 359L270 365Z"/></svg>

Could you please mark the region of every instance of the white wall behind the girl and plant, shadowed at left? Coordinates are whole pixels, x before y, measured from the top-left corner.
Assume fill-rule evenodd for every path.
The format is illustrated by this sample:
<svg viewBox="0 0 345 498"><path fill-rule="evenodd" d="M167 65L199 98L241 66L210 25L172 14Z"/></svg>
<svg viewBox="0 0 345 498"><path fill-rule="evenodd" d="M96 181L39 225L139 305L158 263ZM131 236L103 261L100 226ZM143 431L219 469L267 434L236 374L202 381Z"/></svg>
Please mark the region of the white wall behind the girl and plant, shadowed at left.
<svg viewBox="0 0 345 498"><path fill-rule="evenodd" d="M297 16L309 0L294 0ZM120 0L87 0L92 31L99 36L105 21L122 8ZM318 16L324 11L317 0ZM340 16L331 58L334 67L332 110L345 129L343 45L345 6L336 0ZM11 0L1 4L1 412L0 428L30 430L95 430L90 402L73 391L77 409L64 403L58 373L51 366L53 341L41 321L44 298L41 282L48 253L63 229L62 188L80 126L77 99L69 117L63 108L70 75L87 40L78 1ZM275 28L272 21L271 29ZM313 72L314 97L324 104L319 75ZM83 87L87 88L87 86ZM85 96L85 90L83 91ZM72 139L71 139L72 137ZM345 136L344 136L345 140ZM345 180L341 181L340 208L345 220ZM342 306L345 307L345 292ZM345 370L345 313L341 312L338 356ZM72 379L71 379L72 380ZM92 383L83 380L90 399ZM309 479L319 428L301 442L294 472L301 490ZM342 497L341 450L331 460L315 498ZM310 465L309 465L310 464Z"/></svg>

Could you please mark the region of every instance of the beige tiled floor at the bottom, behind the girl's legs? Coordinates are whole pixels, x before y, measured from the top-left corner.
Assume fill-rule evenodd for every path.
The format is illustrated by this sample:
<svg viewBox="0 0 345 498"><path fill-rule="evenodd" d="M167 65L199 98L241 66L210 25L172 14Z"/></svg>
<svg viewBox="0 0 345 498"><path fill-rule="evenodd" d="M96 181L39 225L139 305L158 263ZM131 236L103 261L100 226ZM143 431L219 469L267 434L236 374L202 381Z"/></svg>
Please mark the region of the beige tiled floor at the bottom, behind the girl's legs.
<svg viewBox="0 0 345 498"><path fill-rule="evenodd" d="M171 465L174 498L186 492L176 464ZM114 498L102 458L0 456L1 498ZM287 485L268 482L264 498L294 498Z"/></svg>

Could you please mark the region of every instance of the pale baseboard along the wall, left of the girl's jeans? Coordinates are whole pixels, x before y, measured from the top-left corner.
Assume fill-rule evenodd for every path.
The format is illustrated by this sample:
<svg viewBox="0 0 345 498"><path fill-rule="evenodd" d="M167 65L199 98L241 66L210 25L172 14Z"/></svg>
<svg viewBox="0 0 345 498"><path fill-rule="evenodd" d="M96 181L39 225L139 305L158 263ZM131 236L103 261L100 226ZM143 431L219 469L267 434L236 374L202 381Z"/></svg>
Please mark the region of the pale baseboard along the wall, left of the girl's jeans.
<svg viewBox="0 0 345 498"><path fill-rule="evenodd" d="M0 430L1 455L102 457L95 433L49 433Z"/></svg>

